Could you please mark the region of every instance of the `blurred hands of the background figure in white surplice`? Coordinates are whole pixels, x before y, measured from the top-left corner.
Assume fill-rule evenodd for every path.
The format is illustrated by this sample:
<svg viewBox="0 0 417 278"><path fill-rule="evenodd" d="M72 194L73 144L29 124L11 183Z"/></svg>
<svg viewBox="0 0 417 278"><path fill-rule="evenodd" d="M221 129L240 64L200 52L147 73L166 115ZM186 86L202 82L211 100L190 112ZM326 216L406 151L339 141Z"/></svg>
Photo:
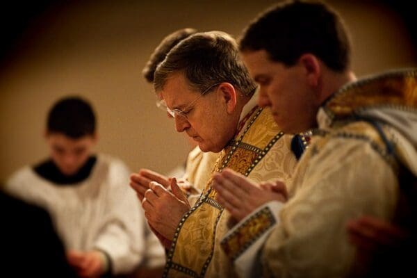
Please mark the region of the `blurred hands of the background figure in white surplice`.
<svg viewBox="0 0 417 278"><path fill-rule="evenodd" d="M68 251L67 261L76 270L79 277L100 277L104 273L104 261L101 252L93 250L88 252Z"/></svg>

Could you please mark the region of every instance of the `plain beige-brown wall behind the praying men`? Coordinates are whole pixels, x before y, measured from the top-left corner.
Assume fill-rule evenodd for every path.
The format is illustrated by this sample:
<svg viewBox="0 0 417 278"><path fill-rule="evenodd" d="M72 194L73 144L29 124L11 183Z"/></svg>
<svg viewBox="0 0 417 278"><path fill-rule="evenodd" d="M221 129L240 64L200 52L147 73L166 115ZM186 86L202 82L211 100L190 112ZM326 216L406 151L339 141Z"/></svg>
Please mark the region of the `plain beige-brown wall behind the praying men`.
<svg viewBox="0 0 417 278"><path fill-rule="evenodd" d="M74 1L75 2L75 1ZM76 1L46 13L23 34L0 72L0 180L47 155L42 133L51 104L87 97L99 115L97 151L132 170L167 172L186 158L184 135L154 105L141 70L160 40L178 28L238 36L275 1ZM358 76L416 65L401 19L375 3L334 3L350 26ZM347 1L346 1L347 2Z"/></svg>

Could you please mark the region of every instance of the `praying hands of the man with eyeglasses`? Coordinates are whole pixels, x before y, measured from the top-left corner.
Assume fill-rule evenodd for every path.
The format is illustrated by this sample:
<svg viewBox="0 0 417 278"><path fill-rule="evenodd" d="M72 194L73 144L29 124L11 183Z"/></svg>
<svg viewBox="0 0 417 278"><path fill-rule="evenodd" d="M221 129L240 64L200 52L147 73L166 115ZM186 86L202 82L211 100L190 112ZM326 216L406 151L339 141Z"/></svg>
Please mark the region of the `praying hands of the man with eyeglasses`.
<svg viewBox="0 0 417 278"><path fill-rule="evenodd" d="M174 239L183 214L190 210L190 204L179 188L177 179L170 179L170 187L172 192L152 181L142 199L142 208L149 226L165 247L169 247L170 241Z"/></svg>

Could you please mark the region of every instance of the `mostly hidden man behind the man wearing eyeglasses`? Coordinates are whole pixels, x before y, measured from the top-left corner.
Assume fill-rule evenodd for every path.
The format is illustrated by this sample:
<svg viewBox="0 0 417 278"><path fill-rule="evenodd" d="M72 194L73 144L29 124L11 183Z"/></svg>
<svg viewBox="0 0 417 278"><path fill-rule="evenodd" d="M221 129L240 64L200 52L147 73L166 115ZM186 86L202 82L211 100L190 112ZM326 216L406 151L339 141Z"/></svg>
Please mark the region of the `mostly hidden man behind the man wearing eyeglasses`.
<svg viewBox="0 0 417 278"><path fill-rule="evenodd" d="M146 81L153 83L156 67L165 59L168 52L175 45L179 44L181 40L184 40L195 33L197 33L197 30L194 28L181 28L165 36L160 44L158 44L158 47L155 48L142 70L142 75L145 77ZM162 99L157 99L156 106L167 112L167 106ZM174 117L174 113L168 111L168 117ZM160 174L142 168L137 173L131 174L131 184L136 185L136 188L141 189L140 192L138 192L140 202L142 202L145 191L149 188L147 186L149 181L157 181L163 186L168 187L170 178L172 177L180 178L179 184L181 190L188 195L188 202L191 205L198 199L199 193L201 193L202 188L204 188L204 185L210 177L210 171L213 168L218 154L213 152L202 152L198 146L196 147L197 144L192 138L188 138L188 141L194 149L188 154L186 163L184 163L184 165L179 165L174 171L170 171L167 174ZM139 271L135 273L138 276L161 277L162 275L163 265L165 265L165 253L158 240L154 243L154 238L155 236L152 233L147 235L147 243L150 243L150 248L147 250L148 256L145 259L147 259L151 268L140 268ZM161 267L160 263L162 263Z"/></svg>

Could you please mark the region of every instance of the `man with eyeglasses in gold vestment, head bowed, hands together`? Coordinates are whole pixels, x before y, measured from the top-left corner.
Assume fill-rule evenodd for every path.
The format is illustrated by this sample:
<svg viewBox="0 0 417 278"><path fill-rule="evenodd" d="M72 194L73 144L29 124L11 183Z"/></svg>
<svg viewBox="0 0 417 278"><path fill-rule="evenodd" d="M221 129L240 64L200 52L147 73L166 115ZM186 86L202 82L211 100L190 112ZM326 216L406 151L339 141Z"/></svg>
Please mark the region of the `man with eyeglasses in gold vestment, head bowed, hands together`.
<svg viewBox="0 0 417 278"><path fill-rule="evenodd" d="M160 106L167 107L177 131L186 132L203 152L220 152L213 172L229 167L253 181L289 183L296 161L292 136L280 131L268 108L256 106L256 85L238 57L236 42L226 33L197 33L183 40L156 69ZM176 179L169 186L150 182L142 200L150 226L167 249L164 275L234 277L219 245L229 213L215 201L211 179L193 207Z"/></svg>

